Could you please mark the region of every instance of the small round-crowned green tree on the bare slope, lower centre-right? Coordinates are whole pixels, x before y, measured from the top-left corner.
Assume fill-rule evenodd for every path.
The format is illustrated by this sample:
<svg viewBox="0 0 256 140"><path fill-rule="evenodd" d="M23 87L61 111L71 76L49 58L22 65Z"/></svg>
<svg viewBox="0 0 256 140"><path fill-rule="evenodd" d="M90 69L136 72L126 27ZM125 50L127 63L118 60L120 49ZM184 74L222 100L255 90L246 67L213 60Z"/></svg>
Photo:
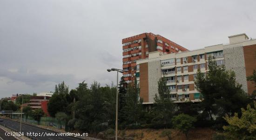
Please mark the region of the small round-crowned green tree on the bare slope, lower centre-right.
<svg viewBox="0 0 256 140"><path fill-rule="evenodd" d="M186 138L188 138L188 132L193 128L193 123L196 119L192 116L180 114L172 118L172 124L175 129L182 131Z"/></svg>

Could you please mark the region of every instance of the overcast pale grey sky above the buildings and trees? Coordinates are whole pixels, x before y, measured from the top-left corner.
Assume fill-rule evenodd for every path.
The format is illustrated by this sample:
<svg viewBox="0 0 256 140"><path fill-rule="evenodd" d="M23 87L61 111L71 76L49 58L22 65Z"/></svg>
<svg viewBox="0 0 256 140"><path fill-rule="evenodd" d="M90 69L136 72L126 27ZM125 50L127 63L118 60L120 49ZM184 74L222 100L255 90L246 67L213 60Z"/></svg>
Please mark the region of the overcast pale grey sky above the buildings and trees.
<svg viewBox="0 0 256 140"><path fill-rule="evenodd" d="M115 83L121 39L160 34L189 50L256 38L255 0L0 0L0 97Z"/></svg>

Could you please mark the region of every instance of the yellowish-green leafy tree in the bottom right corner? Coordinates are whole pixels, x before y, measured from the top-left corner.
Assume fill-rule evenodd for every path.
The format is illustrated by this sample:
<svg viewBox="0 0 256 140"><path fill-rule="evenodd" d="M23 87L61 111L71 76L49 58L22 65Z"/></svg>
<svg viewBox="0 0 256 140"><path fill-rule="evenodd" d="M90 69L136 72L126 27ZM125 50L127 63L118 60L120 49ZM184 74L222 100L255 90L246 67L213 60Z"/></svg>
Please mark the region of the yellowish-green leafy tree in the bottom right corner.
<svg viewBox="0 0 256 140"><path fill-rule="evenodd" d="M256 102L254 108L247 105L247 110L242 108L241 111L240 118L237 113L231 117L224 117L229 124L223 126L225 140L256 140Z"/></svg>

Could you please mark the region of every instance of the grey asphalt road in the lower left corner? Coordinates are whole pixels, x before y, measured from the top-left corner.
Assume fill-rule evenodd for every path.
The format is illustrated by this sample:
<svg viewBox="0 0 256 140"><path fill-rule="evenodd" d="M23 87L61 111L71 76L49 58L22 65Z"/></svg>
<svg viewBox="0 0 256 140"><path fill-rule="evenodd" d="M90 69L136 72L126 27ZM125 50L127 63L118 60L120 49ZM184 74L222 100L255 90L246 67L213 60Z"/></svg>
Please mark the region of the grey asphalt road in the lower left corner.
<svg viewBox="0 0 256 140"><path fill-rule="evenodd" d="M11 127L13 129L20 130L19 122L7 120L7 119L3 119L3 120L4 120L3 122L0 122L1 125L5 124L5 126L7 126L7 127ZM24 135L27 135L27 133L30 133L30 132L39 134L40 136L37 136L37 137L34 136L38 140L82 140L81 138L77 138L77 137L69 137L69 136L61 136L61 135L58 136L57 132L43 129L40 127L30 126L27 124L22 124L21 127L22 127L21 132L24 132ZM0 132L0 134L2 135L2 132ZM54 134L54 136L52 136L52 135L47 136L47 134ZM7 140L9 140L9 139L7 139Z"/></svg>

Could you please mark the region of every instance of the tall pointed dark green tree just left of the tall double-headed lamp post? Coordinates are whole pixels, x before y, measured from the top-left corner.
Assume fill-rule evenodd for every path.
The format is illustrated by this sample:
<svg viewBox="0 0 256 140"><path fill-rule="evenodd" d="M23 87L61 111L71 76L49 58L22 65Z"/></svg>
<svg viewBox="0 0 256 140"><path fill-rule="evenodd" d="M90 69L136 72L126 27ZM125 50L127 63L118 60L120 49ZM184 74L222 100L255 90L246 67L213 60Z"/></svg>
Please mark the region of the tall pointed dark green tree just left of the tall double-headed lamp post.
<svg viewBox="0 0 256 140"><path fill-rule="evenodd" d="M104 96L100 84L94 82L84 97L76 103L77 121L74 128L82 131L98 132L102 129L102 123L107 121L107 114L104 110Z"/></svg>

